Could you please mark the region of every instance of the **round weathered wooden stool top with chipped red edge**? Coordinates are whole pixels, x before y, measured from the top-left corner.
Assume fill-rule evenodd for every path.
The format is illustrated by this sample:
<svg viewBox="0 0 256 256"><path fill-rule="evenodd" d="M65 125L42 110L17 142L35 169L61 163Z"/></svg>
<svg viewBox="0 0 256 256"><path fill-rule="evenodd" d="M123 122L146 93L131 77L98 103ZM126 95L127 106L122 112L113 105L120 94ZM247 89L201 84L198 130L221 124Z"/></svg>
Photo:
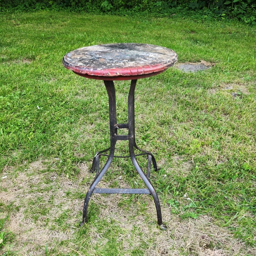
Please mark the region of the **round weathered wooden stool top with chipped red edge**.
<svg viewBox="0 0 256 256"><path fill-rule="evenodd" d="M152 44L101 44L67 53L63 64L79 76L101 80L132 80L154 76L177 62L169 48Z"/></svg>

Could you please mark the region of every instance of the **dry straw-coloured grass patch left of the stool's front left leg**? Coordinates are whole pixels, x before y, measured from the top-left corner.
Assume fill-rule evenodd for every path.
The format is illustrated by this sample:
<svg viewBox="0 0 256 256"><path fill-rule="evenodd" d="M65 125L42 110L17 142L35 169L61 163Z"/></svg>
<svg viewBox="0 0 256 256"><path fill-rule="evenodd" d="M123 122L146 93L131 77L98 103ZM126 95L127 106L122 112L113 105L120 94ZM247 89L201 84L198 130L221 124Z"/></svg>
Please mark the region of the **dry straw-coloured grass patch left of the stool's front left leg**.
<svg viewBox="0 0 256 256"><path fill-rule="evenodd" d="M69 233L60 228L52 230L51 225L58 226L55 219L68 210L72 213L67 224L76 224L76 214L82 207L81 201L66 196L68 191L76 192L78 184L65 176L41 173L46 168L43 162L31 163L17 175L3 174L7 178L1 182L0 200L18 207L9 212L6 229L15 234L11 250L18 251L19 255L44 255L46 244L50 248L51 244L69 239L73 230ZM45 179L52 182L46 183ZM3 217L7 215L8 212Z"/></svg>

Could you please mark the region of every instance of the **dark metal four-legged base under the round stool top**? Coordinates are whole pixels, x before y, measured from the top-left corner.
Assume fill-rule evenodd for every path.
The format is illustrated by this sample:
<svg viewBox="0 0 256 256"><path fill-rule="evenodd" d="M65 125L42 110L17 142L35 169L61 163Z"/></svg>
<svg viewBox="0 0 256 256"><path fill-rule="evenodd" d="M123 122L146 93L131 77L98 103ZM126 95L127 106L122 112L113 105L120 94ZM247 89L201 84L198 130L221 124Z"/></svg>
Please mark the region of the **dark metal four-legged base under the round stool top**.
<svg viewBox="0 0 256 256"><path fill-rule="evenodd" d="M93 165L92 165L92 172L96 171L96 177L93 180L93 183L91 184L85 199L84 199L84 209L83 209L83 221L81 224L84 224L84 222L87 221L87 209L88 209L88 203L90 200L90 196L93 193L128 193L128 194L151 194L154 199L154 204L157 210L157 224L163 229L166 229L166 226L163 225L162 221L162 213L161 213L161 207L159 198L157 196L157 193L151 184L149 178L150 178L150 171L151 171L151 163L153 164L154 169L157 171L157 163L154 158L154 155L146 150L143 150L139 148L136 145L135 141L135 128L134 128L134 91L136 86L137 80L131 81L131 87L129 90L128 95L128 124L117 124L116 121L116 94L115 94L115 87L113 84L113 81L104 81L105 87L108 92L108 100L109 100L109 123L110 123L110 141L111 146L107 149L104 149L102 151L99 151L96 153L95 157L93 158ZM128 129L128 135L117 135L117 129L119 128L127 128ZM115 156L115 145L117 140L128 140L129 143L129 157L132 160L132 163L144 181L145 185L148 187L148 189L107 189L107 188L96 188L99 181L102 179L105 172L108 170L109 166L111 165L111 162L113 160L113 157L122 157L122 156ZM135 154L134 148L137 148L138 150L142 151L142 154ZM103 154L106 151L110 151L109 154ZM148 155L148 165L147 165L147 172L146 174L143 172L143 170L140 168L136 156L138 155ZM108 160L105 163L105 166L101 171L99 171L99 157L101 155L108 156ZM125 156L127 157L127 156Z"/></svg>

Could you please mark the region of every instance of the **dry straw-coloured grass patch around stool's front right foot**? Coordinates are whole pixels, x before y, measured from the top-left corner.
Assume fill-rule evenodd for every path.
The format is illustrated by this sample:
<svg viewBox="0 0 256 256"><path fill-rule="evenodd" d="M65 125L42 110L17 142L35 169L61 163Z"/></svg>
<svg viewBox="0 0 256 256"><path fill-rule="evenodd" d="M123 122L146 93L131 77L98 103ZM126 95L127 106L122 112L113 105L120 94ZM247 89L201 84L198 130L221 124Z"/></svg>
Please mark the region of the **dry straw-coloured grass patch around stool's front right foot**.
<svg viewBox="0 0 256 256"><path fill-rule="evenodd" d="M109 195L102 198L96 195L92 199L96 204L104 206L100 209L101 218L115 220L126 233L120 234L124 241L124 250L131 250L132 246L140 246L142 241L151 242L145 255L198 255L198 256L228 256L228 255L255 255L255 248L248 248L239 239L226 229L214 224L214 220L207 215L197 219L181 219L170 211L170 207L162 207L163 221L168 225L166 231L160 230L155 224L156 211L154 202L145 196L147 202L146 215L138 214L138 204L129 207L129 211L118 207L121 195ZM136 216L134 218L134 216ZM139 227L142 237L132 231L134 226Z"/></svg>

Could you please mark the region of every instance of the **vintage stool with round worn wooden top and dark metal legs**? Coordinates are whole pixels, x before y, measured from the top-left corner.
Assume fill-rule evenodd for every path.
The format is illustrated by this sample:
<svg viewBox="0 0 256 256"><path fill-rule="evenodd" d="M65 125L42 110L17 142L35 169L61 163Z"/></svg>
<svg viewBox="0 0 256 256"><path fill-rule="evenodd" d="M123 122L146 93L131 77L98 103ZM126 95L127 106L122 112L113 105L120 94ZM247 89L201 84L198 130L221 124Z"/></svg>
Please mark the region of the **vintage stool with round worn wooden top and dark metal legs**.
<svg viewBox="0 0 256 256"><path fill-rule="evenodd" d="M163 225L160 202L157 193L152 186L150 178L151 163L157 171L157 163L151 152L140 149L136 145L134 130L134 90L137 79L155 76L165 71L177 62L177 54L166 47L151 44L102 44L76 49L63 57L63 64L79 76L104 81L108 92L109 100L109 122L110 122L110 147L96 153L93 159L92 171L96 171L96 177L84 199L83 221L87 221L87 209L90 196L93 193L109 194L150 194L154 198L157 210L157 224L166 229ZM116 93L113 81L131 80L128 94L128 123L118 124L116 120ZM119 129L128 129L128 135L119 135ZM115 145L117 140L128 140L129 156L115 156ZM135 154L134 148L141 151ZM109 151L108 154L104 154ZM138 155L148 156L146 174L140 168L136 157ZM99 170L99 157L108 156L108 160L102 170ZM98 188L96 187L108 170L113 157L130 157L140 177L148 189L121 189L121 188Z"/></svg>

